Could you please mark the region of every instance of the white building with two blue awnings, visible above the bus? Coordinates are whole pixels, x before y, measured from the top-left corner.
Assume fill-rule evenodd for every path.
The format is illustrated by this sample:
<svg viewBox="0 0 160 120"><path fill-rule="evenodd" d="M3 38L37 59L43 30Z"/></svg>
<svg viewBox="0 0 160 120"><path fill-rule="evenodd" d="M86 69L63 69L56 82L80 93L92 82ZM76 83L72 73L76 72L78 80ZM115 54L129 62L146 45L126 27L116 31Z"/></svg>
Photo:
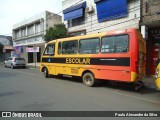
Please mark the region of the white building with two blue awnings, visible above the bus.
<svg viewBox="0 0 160 120"><path fill-rule="evenodd" d="M140 0L64 0L69 36L138 28Z"/></svg>

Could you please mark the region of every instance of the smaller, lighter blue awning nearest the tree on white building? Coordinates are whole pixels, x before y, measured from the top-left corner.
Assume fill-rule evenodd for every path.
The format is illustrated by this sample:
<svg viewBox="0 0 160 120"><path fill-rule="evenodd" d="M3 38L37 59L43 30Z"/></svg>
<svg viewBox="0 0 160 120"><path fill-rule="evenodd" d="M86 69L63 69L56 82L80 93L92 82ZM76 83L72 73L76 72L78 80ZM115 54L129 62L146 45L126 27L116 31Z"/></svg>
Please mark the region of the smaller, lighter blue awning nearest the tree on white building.
<svg viewBox="0 0 160 120"><path fill-rule="evenodd" d="M85 7L86 7L86 2L83 2L81 4L63 10L64 20L71 20L82 17L84 15Z"/></svg>

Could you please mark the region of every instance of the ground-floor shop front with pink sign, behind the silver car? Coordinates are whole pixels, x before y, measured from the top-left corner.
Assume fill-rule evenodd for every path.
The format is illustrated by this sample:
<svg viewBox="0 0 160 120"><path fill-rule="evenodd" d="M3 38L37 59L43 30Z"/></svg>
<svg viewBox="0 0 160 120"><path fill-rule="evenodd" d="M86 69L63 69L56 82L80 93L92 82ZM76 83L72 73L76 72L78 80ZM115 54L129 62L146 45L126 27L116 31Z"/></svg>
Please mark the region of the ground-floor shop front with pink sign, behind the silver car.
<svg viewBox="0 0 160 120"><path fill-rule="evenodd" d="M14 42L14 56L25 58L27 63L40 62L45 42L41 37Z"/></svg>

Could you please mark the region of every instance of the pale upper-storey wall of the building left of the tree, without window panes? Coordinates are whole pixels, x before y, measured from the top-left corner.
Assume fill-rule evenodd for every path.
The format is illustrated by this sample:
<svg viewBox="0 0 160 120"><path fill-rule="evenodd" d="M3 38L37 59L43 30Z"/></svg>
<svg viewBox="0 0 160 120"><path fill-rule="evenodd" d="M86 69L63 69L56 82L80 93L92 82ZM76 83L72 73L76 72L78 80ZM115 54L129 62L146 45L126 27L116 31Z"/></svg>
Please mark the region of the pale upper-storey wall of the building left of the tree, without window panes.
<svg viewBox="0 0 160 120"><path fill-rule="evenodd" d="M40 22L40 32L35 32L35 24ZM44 43L43 35L49 27L53 27L55 24L62 23L62 17L54 13L44 11L31 18L21 21L13 26L13 41L14 46L26 46L38 43ZM32 25L33 34L28 34L29 26ZM21 36L21 31L26 28L26 36ZM19 30L20 36L16 38L16 31Z"/></svg>

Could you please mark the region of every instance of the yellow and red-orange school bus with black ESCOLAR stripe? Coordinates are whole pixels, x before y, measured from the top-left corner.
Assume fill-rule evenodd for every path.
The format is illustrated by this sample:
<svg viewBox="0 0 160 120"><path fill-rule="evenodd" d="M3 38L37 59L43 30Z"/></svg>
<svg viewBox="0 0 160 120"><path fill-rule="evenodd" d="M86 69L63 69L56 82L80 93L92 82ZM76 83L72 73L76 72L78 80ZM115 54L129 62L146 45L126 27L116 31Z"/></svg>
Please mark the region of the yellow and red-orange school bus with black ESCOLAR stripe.
<svg viewBox="0 0 160 120"><path fill-rule="evenodd" d="M45 77L82 77L86 86L97 80L142 85L145 55L145 41L137 29L76 36L50 41L40 71Z"/></svg>

